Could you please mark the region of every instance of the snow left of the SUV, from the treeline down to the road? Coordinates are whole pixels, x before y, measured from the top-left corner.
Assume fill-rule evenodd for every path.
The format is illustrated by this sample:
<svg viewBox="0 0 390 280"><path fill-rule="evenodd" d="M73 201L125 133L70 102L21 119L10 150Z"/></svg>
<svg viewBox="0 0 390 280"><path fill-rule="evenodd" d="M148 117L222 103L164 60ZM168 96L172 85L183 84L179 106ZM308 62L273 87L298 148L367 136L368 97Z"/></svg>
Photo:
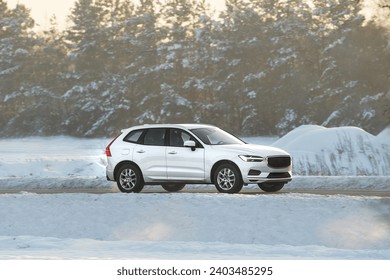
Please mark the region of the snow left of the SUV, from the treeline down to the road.
<svg viewBox="0 0 390 280"><path fill-rule="evenodd" d="M28 137L0 140L0 190L111 188L107 139Z"/></svg>

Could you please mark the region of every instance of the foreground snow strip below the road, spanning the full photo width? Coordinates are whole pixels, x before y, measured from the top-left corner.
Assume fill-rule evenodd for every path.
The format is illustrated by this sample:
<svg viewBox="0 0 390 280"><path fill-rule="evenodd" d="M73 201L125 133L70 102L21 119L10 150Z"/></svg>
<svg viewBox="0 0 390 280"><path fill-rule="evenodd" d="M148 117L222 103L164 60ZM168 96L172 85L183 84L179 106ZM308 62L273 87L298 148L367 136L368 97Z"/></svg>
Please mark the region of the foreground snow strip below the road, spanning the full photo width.
<svg viewBox="0 0 390 280"><path fill-rule="evenodd" d="M389 203L298 194L1 195L0 259L389 259Z"/></svg>

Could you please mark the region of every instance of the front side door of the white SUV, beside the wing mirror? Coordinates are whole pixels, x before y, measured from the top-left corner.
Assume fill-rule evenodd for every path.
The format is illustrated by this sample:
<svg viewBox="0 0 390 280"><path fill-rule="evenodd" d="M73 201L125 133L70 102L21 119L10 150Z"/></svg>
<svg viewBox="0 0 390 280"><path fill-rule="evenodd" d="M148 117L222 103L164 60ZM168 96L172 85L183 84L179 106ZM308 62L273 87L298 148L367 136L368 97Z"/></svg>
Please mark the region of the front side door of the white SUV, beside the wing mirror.
<svg viewBox="0 0 390 280"><path fill-rule="evenodd" d="M197 143L193 151L184 147L184 142L193 140ZM166 149L167 175L169 181L193 181L205 180L204 148L187 131L169 129L169 145Z"/></svg>

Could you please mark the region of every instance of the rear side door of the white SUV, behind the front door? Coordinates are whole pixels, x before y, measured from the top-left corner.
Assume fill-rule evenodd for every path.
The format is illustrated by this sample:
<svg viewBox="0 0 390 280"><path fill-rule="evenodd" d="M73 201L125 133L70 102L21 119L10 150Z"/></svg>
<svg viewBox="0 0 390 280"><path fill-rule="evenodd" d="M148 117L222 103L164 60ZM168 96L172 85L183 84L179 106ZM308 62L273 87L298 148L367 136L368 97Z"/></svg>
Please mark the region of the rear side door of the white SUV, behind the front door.
<svg viewBox="0 0 390 280"><path fill-rule="evenodd" d="M133 151L133 160L142 171L145 182L166 181L166 128L149 128Z"/></svg>

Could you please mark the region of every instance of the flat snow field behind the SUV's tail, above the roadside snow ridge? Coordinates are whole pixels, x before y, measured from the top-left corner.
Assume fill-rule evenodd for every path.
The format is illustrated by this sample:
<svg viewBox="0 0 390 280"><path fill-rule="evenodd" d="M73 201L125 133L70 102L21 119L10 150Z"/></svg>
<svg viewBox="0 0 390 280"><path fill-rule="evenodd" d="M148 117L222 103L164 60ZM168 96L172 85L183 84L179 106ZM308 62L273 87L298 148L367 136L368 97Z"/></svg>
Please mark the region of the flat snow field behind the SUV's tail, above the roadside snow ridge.
<svg viewBox="0 0 390 280"><path fill-rule="evenodd" d="M29 137L0 140L0 178L102 176L105 139Z"/></svg>

